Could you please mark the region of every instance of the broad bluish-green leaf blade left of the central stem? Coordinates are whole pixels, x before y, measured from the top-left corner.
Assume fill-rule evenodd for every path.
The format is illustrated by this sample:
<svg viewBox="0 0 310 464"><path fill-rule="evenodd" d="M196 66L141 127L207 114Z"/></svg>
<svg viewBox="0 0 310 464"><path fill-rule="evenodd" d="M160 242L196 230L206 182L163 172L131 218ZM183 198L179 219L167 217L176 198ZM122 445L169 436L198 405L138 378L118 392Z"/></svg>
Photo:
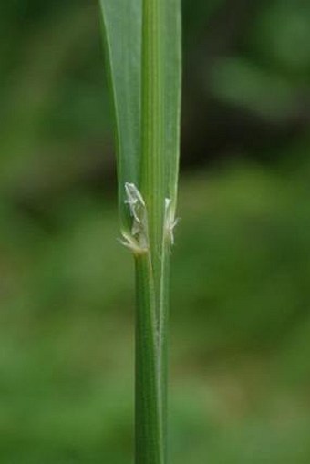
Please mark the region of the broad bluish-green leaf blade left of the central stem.
<svg viewBox="0 0 310 464"><path fill-rule="evenodd" d="M142 0L100 0L116 119L119 211L129 229L125 182L139 183Z"/></svg>

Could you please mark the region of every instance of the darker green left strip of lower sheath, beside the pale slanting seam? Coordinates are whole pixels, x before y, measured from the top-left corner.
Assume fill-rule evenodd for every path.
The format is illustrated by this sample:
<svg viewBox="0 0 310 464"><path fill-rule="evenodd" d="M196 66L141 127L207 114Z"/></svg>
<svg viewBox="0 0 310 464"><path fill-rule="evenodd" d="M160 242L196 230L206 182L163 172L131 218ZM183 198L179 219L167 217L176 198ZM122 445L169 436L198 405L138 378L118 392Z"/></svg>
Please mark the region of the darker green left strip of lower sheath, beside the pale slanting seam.
<svg viewBox="0 0 310 464"><path fill-rule="evenodd" d="M163 464L156 297L150 253L136 259L136 464Z"/></svg>

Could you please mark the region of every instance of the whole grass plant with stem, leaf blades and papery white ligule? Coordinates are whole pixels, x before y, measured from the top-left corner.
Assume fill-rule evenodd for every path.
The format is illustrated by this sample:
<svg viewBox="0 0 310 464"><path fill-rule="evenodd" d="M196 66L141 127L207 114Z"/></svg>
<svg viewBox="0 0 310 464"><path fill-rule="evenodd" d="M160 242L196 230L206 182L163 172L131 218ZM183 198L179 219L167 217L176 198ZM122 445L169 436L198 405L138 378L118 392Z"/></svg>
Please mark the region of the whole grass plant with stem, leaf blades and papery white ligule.
<svg viewBox="0 0 310 464"><path fill-rule="evenodd" d="M136 464L167 462L169 273L181 107L180 0L100 0L121 242L136 272Z"/></svg>

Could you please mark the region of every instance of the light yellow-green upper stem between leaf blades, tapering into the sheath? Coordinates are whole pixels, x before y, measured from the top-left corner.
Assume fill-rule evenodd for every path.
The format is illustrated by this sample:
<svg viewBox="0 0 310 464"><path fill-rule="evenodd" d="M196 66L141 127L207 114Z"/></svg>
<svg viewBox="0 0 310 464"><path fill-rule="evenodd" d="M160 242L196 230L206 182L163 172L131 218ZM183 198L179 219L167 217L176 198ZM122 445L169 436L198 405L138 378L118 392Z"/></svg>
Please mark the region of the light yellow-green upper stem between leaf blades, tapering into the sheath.
<svg viewBox="0 0 310 464"><path fill-rule="evenodd" d="M159 281L165 170L162 153L162 0L143 0L142 10L142 154L140 190L149 214L150 250Z"/></svg>

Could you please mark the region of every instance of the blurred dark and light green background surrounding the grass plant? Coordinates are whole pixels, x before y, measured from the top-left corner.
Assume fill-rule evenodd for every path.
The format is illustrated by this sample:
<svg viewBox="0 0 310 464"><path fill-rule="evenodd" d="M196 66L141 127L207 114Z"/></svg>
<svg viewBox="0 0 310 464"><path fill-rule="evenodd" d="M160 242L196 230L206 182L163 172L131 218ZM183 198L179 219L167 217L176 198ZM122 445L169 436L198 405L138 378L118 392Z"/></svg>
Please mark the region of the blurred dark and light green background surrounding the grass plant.
<svg viewBox="0 0 310 464"><path fill-rule="evenodd" d="M310 462L310 3L183 2L171 462ZM0 462L132 462L95 0L0 6Z"/></svg>

